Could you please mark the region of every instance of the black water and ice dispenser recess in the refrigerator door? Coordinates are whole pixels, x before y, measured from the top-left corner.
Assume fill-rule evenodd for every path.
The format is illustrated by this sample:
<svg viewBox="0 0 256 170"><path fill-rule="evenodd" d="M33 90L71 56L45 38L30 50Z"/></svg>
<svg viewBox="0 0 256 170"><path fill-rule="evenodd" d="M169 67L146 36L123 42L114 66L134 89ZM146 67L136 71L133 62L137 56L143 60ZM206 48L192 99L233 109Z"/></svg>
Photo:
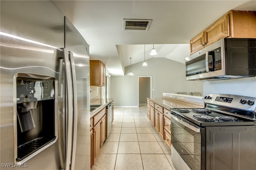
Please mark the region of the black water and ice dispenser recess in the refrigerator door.
<svg viewBox="0 0 256 170"><path fill-rule="evenodd" d="M28 160L56 141L55 78L16 78L17 158Z"/></svg>

